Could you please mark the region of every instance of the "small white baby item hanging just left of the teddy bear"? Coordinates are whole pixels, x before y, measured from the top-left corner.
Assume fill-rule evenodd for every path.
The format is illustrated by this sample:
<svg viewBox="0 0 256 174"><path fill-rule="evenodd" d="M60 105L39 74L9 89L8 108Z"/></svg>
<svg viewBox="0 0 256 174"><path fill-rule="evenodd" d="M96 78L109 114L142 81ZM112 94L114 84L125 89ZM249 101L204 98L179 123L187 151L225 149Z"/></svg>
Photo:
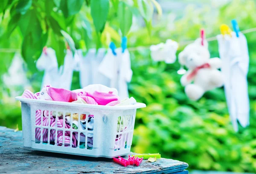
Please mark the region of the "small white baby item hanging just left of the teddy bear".
<svg viewBox="0 0 256 174"><path fill-rule="evenodd" d="M166 63L175 63L177 49L178 43L168 39L166 43L150 46L151 58L156 62L165 61Z"/></svg>

